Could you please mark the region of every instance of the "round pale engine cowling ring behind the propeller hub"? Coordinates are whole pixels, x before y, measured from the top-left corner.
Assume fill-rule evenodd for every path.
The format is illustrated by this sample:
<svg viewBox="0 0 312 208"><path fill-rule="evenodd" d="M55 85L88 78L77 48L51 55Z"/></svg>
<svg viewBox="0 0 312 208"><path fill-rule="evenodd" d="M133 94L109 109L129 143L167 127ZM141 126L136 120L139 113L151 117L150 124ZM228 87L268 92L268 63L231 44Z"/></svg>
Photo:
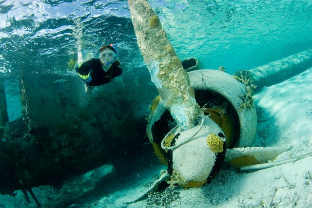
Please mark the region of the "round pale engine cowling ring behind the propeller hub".
<svg viewBox="0 0 312 208"><path fill-rule="evenodd" d="M223 126L229 140L227 146L250 147L256 133L257 115L254 105L252 108L241 108L241 95L246 93L244 85L233 76L217 70L196 70L190 72L189 77L195 89L195 98L203 107L201 109L210 113L210 116ZM172 119L166 111L161 98L156 97L151 106L147 126L147 135L151 142L159 140L158 134L163 133L159 132L160 128L166 128L163 122ZM232 118L228 118L227 115L231 115ZM165 131L169 132L170 127L167 128L169 130Z"/></svg>

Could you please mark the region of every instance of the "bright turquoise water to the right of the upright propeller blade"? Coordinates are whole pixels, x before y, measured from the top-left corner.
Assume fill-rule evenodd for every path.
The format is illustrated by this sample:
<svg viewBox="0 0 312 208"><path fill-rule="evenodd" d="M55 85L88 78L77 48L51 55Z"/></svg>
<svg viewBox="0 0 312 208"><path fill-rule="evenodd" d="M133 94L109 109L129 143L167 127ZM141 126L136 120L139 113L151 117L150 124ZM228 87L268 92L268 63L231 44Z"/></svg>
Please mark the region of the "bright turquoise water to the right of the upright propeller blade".
<svg viewBox="0 0 312 208"><path fill-rule="evenodd" d="M311 1L200 0L159 9L182 59L233 74L312 47Z"/></svg>

